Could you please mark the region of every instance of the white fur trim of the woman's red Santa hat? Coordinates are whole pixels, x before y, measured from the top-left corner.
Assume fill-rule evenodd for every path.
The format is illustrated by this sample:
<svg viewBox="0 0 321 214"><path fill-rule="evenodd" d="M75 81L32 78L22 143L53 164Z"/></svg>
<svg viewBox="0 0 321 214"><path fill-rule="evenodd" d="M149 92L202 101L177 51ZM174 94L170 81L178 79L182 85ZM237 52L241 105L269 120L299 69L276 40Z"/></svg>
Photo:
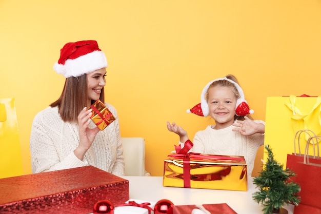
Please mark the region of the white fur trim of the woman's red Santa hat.
<svg viewBox="0 0 321 214"><path fill-rule="evenodd" d="M68 59L64 65L56 62L53 66L57 73L63 74L66 78L81 76L101 68L107 68L107 59L103 51L93 51L73 60Z"/></svg>

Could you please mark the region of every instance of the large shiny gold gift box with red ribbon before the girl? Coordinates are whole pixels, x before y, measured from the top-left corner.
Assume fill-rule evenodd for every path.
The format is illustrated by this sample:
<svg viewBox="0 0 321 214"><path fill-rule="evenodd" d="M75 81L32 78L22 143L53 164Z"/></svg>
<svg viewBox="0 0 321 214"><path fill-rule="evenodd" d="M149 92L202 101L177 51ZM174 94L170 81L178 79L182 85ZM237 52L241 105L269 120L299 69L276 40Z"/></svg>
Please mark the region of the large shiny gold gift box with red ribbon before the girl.
<svg viewBox="0 0 321 214"><path fill-rule="evenodd" d="M170 154L164 161L163 186L247 191L243 156Z"/></svg>

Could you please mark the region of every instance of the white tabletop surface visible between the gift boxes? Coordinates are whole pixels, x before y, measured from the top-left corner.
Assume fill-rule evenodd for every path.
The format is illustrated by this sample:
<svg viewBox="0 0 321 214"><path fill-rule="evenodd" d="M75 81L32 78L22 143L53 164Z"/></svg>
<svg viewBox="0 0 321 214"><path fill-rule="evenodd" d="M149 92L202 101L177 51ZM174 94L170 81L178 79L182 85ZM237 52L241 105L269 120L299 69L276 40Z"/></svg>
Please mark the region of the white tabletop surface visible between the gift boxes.
<svg viewBox="0 0 321 214"><path fill-rule="evenodd" d="M238 214L261 214L263 207L252 199L257 191L253 179L248 181L248 191L164 187L163 177L122 177L129 181L129 197L147 202L168 199L174 205L227 203ZM294 205L285 205L293 214Z"/></svg>

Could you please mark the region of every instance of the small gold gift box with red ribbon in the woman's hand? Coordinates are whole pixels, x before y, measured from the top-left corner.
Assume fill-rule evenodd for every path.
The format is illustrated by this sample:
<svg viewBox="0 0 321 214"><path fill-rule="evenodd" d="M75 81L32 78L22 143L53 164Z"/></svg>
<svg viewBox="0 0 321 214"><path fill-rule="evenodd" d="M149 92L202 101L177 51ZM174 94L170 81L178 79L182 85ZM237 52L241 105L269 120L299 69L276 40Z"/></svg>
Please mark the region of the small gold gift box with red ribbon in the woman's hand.
<svg viewBox="0 0 321 214"><path fill-rule="evenodd" d="M92 104L90 109L92 110L91 120L98 126L100 130L104 130L115 120L114 115L100 100L97 100L94 104Z"/></svg>

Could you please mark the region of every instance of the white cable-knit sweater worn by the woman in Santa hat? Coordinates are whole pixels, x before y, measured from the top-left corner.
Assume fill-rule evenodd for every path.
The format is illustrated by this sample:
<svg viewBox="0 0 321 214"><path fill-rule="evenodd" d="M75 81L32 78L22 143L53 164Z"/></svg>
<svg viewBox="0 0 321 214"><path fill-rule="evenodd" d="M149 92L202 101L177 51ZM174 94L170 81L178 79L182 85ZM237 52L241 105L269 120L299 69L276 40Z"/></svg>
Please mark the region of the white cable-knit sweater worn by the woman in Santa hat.
<svg viewBox="0 0 321 214"><path fill-rule="evenodd" d="M123 146L117 111L110 104L106 106L116 120L97 133L83 161L74 154L79 144L78 124L65 123L57 107L48 107L37 113L30 137L32 173L91 165L117 176L124 176ZM89 124L90 128L95 126L93 122Z"/></svg>

